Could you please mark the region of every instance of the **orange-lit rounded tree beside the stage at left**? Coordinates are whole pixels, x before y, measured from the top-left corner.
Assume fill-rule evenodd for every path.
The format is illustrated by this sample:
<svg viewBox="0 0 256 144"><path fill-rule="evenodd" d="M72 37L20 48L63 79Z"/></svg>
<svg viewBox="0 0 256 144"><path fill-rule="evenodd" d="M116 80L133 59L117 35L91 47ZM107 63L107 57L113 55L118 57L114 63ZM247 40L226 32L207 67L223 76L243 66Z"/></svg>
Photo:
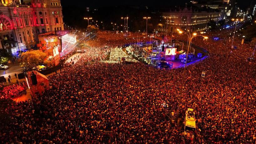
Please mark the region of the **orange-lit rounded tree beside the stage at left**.
<svg viewBox="0 0 256 144"><path fill-rule="evenodd" d="M23 59L23 62L25 62L27 65L38 65L39 63L43 63L47 55L40 50L33 50L22 53L21 57Z"/></svg>

